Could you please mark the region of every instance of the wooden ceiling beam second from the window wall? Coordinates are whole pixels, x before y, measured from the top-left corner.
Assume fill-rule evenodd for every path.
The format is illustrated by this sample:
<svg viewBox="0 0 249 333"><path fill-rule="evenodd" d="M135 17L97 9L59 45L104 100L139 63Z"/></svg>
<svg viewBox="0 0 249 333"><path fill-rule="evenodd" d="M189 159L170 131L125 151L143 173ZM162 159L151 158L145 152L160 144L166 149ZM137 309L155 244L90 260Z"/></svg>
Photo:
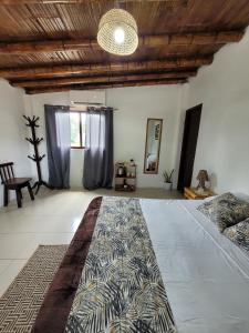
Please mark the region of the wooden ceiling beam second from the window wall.
<svg viewBox="0 0 249 333"><path fill-rule="evenodd" d="M38 88L38 87L56 87L56 85L69 85L69 84L86 84L86 83L114 83L125 81L142 81L142 80L158 80L158 79L186 79L195 77L196 70L193 71L178 71L178 72L166 72L166 73L146 73L146 74L129 74L129 75L112 75L112 77L73 77L73 78L61 78L50 80L37 80L37 81L12 81L10 82L13 87L22 88Z"/></svg>

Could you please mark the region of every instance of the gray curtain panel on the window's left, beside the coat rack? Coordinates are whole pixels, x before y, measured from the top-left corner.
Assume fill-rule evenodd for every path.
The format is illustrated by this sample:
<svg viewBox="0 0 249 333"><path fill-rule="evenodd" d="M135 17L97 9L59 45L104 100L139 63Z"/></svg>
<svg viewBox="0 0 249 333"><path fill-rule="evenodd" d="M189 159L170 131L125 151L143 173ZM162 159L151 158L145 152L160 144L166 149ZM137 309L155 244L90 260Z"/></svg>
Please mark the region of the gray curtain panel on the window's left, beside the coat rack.
<svg viewBox="0 0 249 333"><path fill-rule="evenodd" d="M44 105L49 163L49 184L70 188L70 108Z"/></svg>

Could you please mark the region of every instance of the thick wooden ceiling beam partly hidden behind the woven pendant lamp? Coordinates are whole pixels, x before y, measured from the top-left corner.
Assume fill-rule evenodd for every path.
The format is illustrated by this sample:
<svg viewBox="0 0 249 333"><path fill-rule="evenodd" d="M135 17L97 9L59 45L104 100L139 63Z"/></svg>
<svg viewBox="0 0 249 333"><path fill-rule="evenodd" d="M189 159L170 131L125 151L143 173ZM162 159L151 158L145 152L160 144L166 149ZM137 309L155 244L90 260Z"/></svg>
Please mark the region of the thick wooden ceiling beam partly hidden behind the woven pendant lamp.
<svg viewBox="0 0 249 333"><path fill-rule="evenodd" d="M225 44L228 42L238 42L242 36L243 31L241 30L145 36L139 38L139 47ZM0 53L8 54L72 51L90 48L100 49L95 39L0 42Z"/></svg>

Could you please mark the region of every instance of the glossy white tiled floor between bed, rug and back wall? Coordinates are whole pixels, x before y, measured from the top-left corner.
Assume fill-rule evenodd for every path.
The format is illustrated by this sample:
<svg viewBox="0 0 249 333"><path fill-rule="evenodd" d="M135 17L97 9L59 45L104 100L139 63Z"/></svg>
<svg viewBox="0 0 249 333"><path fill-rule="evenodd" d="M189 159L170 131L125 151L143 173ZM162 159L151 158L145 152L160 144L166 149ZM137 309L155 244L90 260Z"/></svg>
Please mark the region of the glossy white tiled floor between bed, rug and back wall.
<svg viewBox="0 0 249 333"><path fill-rule="evenodd" d="M0 209L0 295L25 264L39 244L70 243L90 201L97 195L183 199L177 191L139 189L135 193L98 191L45 191L34 202L24 198Z"/></svg>

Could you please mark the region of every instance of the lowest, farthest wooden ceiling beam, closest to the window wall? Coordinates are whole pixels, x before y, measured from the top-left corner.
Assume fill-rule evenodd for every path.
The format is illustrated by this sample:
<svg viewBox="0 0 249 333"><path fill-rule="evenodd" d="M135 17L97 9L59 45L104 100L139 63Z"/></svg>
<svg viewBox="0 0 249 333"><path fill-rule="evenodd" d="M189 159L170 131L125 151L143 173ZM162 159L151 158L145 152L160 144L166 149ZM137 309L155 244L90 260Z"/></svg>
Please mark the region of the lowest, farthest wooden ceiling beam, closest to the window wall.
<svg viewBox="0 0 249 333"><path fill-rule="evenodd" d="M96 89L111 89L122 87L143 87L143 85L158 85L158 84L183 84L186 83L186 79L173 79L173 80L151 80L151 81L136 81L136 82L116 82L116 83L101 83L101 84L75 84L65 87L46 87L25 89L28 94L48 93L48 92L61 92L69 90L96 90Z"/></svg>

